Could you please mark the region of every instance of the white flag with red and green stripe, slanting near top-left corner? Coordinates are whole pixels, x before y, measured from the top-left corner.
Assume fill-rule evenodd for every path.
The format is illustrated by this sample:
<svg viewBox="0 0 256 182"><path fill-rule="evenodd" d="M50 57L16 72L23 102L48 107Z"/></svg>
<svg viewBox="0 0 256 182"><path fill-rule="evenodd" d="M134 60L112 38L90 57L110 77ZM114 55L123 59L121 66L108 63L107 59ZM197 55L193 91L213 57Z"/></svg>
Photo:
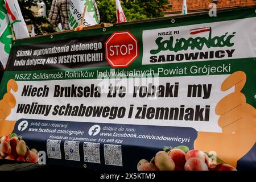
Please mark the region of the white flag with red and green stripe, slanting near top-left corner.
<svg viewBox="0 0 256 182"><path fill-rule="evenodd" d="M23 19L17 0L5 0L11 27L16 39L29 38L26 23Z"/></svg>

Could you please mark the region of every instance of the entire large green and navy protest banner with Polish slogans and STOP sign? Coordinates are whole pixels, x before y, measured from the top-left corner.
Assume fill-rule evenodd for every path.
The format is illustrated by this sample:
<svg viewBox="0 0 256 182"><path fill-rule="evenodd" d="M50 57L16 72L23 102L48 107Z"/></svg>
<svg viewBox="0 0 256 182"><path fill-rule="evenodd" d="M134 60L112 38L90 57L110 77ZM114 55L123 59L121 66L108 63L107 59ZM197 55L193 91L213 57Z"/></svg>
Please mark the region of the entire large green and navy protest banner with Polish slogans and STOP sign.
<svg viewBox="0 0 256 182"><path fill-rule="evenodd" d="M250 7L16 40L0 154L17 135L14 158L38 160L26 143L40 164L136 170L166 151L138 169L256 168L255 31ZM173 147L187 162L161 162Z"/></svg>

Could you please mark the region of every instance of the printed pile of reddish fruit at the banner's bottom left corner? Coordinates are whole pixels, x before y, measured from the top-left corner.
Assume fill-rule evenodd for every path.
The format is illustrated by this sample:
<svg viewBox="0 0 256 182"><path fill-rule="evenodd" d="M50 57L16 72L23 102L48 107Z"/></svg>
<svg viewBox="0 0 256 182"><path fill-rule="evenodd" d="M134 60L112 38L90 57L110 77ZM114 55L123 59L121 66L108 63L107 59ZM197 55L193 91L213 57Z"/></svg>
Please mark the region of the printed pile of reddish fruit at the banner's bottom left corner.
<svg viewBox="0 0 256 182"><path fill-rule="evenodd" d="M36 163L39 154L35 148L29 150L22 138L11 134L0 138L0 159Z"/></svg>

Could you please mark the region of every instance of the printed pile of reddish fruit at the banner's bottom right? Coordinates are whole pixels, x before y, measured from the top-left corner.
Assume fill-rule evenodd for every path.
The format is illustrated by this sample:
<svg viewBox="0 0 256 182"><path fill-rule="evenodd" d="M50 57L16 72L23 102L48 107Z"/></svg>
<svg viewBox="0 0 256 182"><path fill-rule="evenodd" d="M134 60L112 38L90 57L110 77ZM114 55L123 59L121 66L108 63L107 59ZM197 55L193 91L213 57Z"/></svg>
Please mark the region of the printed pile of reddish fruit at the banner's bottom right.
<svg viewBox="0 0 256 182"><path fill-rule="evenodd" d="M142 159L138 171L237 171L229 164L212 164L208 155L200 150L189 150L187 146L167 147L156 153L150 162Z"/></svg>

